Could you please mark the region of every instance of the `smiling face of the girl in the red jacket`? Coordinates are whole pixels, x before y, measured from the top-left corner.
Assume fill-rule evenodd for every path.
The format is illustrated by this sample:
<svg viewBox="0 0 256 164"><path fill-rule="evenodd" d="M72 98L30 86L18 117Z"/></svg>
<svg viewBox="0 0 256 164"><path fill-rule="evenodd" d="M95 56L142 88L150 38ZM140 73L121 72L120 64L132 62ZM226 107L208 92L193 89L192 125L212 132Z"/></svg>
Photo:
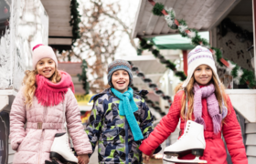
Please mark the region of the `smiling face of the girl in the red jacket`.
<svg viewBox="0 0 256 164"><path fill-rule="evenodd" d="M198 85L206 86L212 78L212 70L208 65L200 65L195 69L194 77Z"/></svg>

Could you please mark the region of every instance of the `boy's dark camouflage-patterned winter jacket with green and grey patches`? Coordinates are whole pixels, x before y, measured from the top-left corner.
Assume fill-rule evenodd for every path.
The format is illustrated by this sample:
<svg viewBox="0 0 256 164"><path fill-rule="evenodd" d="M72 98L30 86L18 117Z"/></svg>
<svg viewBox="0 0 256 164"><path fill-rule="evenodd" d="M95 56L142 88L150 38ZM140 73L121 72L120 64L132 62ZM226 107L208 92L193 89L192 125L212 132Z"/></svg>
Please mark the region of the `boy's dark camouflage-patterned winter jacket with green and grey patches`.
<svg viewBox="0 0 256 164"><path fill-rule="evenodd" d="M112 94L110 88L92 98L94 104L86 132L93 151L98 141L99 163L141 164L142 152L139 147L142 140L134 141L126 118L119 115L120 99ZM142 97L133 94L133 99L139 108L133 114L144 138L147 138L153 131L152 114ZM159 147L155 153L160 150Z"/></svg>

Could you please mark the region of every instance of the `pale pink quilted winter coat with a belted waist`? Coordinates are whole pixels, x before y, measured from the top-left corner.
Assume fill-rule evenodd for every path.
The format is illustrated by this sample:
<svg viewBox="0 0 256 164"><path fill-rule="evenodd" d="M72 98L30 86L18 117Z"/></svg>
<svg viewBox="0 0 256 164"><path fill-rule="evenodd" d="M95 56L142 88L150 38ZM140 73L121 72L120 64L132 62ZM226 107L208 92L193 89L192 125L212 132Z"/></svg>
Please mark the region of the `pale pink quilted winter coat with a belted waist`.
<svg viewBox="0 0 256 164"><path fill-rule="evenodd" d="M64 102L57 106L44 107L34 97L31 108L25 108L25 97L21 89L13 102L10 113L10 139L16 150L13 164L45 164L56 133L65 132L64 107L67 128L78 155L92 152L91 143L80 121L80 108L70 89ZM37 123L43 122L42 129ZM24 128L25 124L26 128Z"/></svg>

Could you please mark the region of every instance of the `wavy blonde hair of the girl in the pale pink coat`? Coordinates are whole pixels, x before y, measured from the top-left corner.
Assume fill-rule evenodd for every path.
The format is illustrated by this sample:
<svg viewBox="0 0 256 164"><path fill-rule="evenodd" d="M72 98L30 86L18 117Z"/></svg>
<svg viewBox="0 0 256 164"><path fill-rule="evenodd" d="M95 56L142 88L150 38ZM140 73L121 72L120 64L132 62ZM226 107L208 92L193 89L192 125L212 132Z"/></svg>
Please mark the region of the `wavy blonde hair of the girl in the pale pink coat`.
<svg viewBox="0 0 256 164"><path fill-rule="evenodd" d="M25 72L25 77L23 78L22 85L25 86L24 88L24 96L25 96L25 105L28 107L31 107L33 102L33 97L35 95L35 91L37 89L37 76L38 72L37 69L35 70L27 70ZM55 68L55 72L51 77L49 77L49 80L53 83L58 83L61 79L61 75L59 74L59 70L57 67Z"/></svg>

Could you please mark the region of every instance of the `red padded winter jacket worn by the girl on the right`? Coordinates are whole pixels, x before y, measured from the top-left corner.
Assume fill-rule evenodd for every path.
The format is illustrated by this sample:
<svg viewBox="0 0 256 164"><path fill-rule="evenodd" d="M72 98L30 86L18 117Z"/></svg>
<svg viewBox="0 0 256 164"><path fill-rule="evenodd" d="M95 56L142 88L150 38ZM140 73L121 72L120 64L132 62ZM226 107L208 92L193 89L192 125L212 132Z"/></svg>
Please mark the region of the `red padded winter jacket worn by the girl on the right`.
<svg viewBox="0 0 256 164"><path fill-rule="evenodd" d="M154 149L156 149L161 143L165 141L166 138L170 136L172 132L175 131L180 118L181 99L183 94L184 91L179 91L176 93L174 102L169 109L168 114L162 118L150 136L144 139L142 145L139 148L144 152L144 154L150 155ZM233 164L248 164L248 159L246 157L245 148L242 142L240 124L237 120L235 110L232 107L229 97L227 103L229 113L225 118L225 123L222 124L221 130L227 143L229 154ZM213 125L211 117L208 114L206 98L202 99L202 105L202 118L204 118L206 123L206 129L204 132L206 139L206 149L204 151L204 155L200 157L200 159L207 160L208 164L227 164L227 153L224 142L221 139L221 133L217 135L213 133ZM184 123L185 122L183 120L180 124L182 133L185 128ZM195 156L192 154L187 154L186 156L180 157L179 159L195 159Z"/></svg>

